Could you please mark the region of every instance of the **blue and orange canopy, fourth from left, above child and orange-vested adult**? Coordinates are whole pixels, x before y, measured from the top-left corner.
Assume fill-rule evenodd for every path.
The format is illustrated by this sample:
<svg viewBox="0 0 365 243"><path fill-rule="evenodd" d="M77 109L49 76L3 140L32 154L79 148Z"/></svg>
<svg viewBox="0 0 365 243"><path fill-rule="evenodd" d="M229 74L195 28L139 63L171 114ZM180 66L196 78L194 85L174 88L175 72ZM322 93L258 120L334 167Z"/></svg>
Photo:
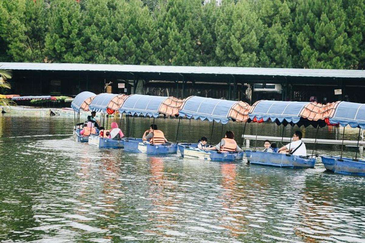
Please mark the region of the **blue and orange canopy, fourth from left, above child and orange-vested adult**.
<svg viewBox="0 0 365 243"><path fill-rule="evenodd" d="M247 121L250 109L251 106L242 101L190 96L184 99L179 115L226 124L229 119Z"/></svg>

